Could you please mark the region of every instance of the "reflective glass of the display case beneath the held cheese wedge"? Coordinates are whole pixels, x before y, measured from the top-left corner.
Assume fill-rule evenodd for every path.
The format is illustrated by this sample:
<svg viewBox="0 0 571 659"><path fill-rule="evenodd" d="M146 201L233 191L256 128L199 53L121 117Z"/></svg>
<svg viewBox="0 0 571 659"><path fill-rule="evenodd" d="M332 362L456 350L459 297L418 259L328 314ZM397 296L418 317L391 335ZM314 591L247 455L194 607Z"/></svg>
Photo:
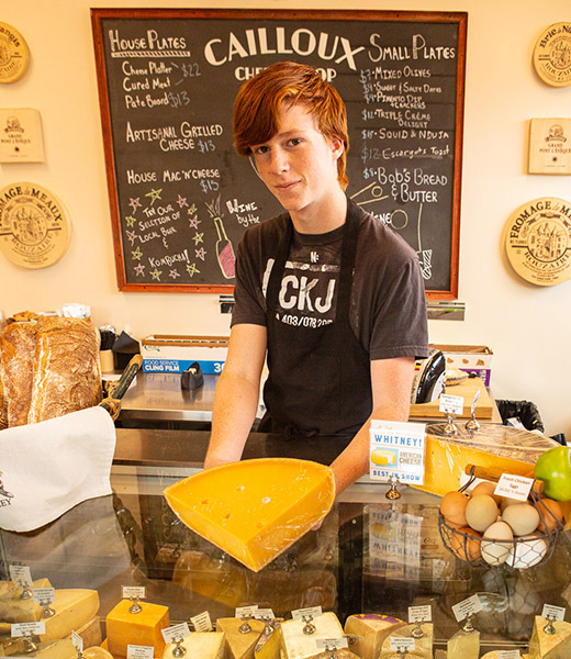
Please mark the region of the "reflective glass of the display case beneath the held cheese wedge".
<svg viewBox="0 0 571 659"><path fill-rule="evenodd" d="M191 440L188 434L157 431L155 448L146 451L144 443L117 432L113 494L85 501L35 532L0 532L0 580L9 580L10 566L18 565L56 589L97 590L101 638L125 585L145 587L146 601L169 607L170 624L205 611L214 622L254 604L284 618L292 610L321 606L342 624L370 612L408 619L410 606L429 604L437 650L445 650L461 626L452 605L478 594L482 611L473 623L482 654L524 652L544 604L566 607L571 601L567 533L542 565L471 567L443 544L438 496L402 485L401 498L389 500L389 487L367 478L336 500L317 530L251 572L188 529L163 496L167 485L200 468L192 455L203 447L194 442L191 448ZM255 446L260 457L267 455L265 438ZM327 460L318 446L310 457L313 451ZM184 460L177 457L183 454ZM0 634L5 639L5 625ZM9 646L7 655L13 654Z"/></svg>

